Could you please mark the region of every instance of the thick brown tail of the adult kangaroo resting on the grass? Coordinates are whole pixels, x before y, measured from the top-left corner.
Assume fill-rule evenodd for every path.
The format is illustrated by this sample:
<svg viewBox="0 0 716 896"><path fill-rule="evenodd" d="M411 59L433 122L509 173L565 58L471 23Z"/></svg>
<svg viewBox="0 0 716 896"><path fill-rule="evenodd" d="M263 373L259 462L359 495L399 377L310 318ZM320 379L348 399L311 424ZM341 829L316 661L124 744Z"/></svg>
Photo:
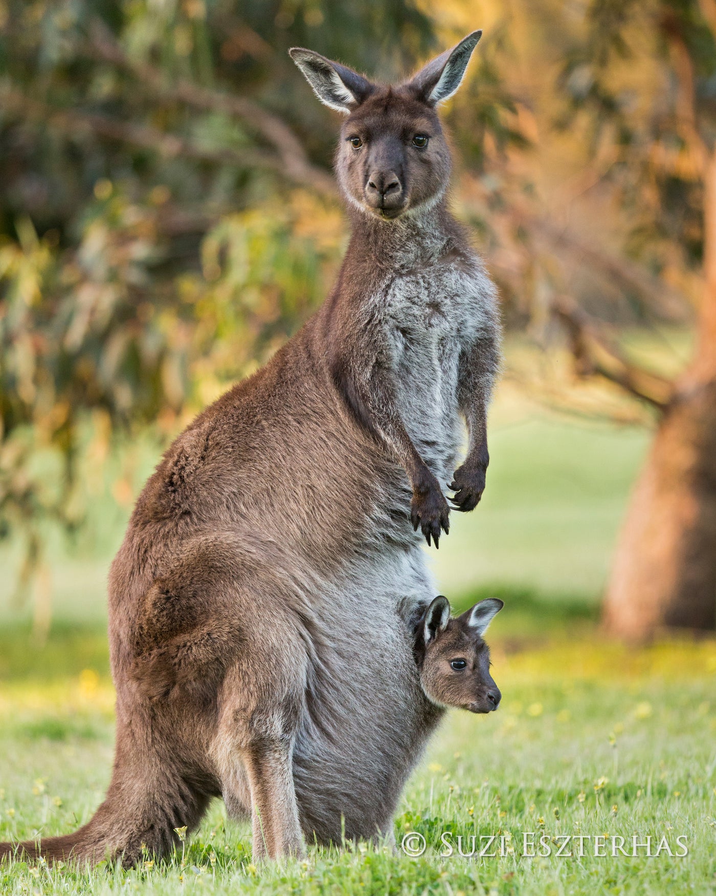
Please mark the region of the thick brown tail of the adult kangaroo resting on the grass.
<svg viewBox="0 0 716 896"><path fill-rule="evenodd" d="M95 865L105 858L121 858L124 867L131 867L143 855L166 855L178 840L175 828L195 828L209 795L205 788L179 776L152 777L127 780L115 767L107 797L89 823L63 837L0 843L0 863L42 857L48 862Z"/></svg>

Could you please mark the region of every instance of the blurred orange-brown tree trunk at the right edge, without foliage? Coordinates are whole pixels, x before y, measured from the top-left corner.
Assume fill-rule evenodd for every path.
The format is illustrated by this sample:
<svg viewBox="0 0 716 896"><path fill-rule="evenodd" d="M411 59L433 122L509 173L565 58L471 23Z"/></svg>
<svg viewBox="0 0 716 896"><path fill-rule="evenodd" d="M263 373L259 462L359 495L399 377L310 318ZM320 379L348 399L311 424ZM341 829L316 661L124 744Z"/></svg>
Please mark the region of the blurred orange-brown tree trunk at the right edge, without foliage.
<svg viewBox="0 0 716 896"><path fill-rule="evenodd" d="M610 633L716 628L716 152L704 170L704 291L695 358L632 495L604 604Z"/></svg>

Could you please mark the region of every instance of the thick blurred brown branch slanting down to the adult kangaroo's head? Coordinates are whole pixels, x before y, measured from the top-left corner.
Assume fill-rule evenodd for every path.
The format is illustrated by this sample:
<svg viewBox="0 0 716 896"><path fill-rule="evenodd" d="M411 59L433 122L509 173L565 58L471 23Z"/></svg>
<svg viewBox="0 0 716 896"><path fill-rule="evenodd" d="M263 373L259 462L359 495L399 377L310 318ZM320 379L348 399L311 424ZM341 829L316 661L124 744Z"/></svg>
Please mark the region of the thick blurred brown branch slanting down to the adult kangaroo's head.
<svg viewBox="0 0 716 896"><path fill-rule="evenodd" d="M291 128L278 116L267 112L251 99L208 90L184 79L172 84L167 83L165 76L153 65L137 62L126 56L111 32L98 20L92 22L90 26L90 44L86 50L91 56L116 65L131 74L163 99L241 118L251 130L260 134L273 146L286 177L297 184L309 186L329 198L336 198L337 190L333 177L322 168L311 164L303 145Z"/></svg>

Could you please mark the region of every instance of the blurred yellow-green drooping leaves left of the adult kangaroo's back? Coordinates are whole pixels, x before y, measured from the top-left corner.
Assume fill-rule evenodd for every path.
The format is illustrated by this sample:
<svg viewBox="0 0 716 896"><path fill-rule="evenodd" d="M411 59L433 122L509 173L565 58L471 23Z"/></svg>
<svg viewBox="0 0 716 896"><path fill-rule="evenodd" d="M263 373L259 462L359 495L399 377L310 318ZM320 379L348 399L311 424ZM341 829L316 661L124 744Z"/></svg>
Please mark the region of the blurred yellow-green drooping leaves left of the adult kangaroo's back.
<svg viewBox="0 0 716 896"><path fill-rule="evenodd" d="M186 401L216 398L286 340L323 297L340 245L336 222L294 194L272 214L218 220L200 271L155 276L165 194L131 202L108 181L95 192L76 248L57 251L28 218L0 246L0 509L33 556L44 516L81 522L74 473L88 412L105 452L116 427L158 420L170 431Z"/></svg>

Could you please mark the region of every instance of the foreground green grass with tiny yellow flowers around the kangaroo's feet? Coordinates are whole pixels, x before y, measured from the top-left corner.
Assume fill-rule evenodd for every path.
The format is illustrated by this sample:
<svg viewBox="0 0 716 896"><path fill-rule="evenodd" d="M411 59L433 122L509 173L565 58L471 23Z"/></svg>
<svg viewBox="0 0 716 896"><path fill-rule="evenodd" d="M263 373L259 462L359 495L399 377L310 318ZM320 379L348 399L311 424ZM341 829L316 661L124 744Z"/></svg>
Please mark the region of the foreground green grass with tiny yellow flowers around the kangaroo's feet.
<svg viewBox="0 0 716 896"><path fill-rule="evenodd" d="M0 892L716 892L716 642L627 650L568 604L545 642L557 617L529 594L503 596L490 638L503 703L487 717L448 714L398 809L396 839L422 834L422 857L358 844L256 868L250 831L217 801L183 864L181 853L128 872L17 863L0 869ZM38 653L26 630L0 634L12 659L0 679L0 839L71 831L102 798L113 737L104 644L101 630L59 626ZM473 834L505 836L506 855L440 857L443 831L461 834L463 851ZM581 858L522 857L523 831L627 846L666 835L673 851L683 835L689 853L612 857L607 840L607 857L592 841Z"/></svg>

